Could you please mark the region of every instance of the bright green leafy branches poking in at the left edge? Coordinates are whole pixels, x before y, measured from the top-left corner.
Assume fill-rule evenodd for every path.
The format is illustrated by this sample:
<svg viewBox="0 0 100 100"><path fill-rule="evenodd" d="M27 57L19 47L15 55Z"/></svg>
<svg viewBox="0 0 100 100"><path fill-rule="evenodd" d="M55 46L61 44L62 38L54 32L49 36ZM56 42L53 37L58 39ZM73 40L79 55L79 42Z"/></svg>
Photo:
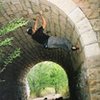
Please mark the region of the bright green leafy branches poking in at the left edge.
<svg viewBox="0 0 100 100"><path fill-rule="evenodd" d="M28 21L26 21L24 18L17 18L10 21L0 29L0 38L10 33L11 31L16 30L23 25L26 25L27 23ZM0 72L2 72L8 64L12 63L21 54L20 48L15 48L15 50L8 53L8 56L5 55L4 47L12 46L13 39L14 37L9 37L0 40Z"/></svg>

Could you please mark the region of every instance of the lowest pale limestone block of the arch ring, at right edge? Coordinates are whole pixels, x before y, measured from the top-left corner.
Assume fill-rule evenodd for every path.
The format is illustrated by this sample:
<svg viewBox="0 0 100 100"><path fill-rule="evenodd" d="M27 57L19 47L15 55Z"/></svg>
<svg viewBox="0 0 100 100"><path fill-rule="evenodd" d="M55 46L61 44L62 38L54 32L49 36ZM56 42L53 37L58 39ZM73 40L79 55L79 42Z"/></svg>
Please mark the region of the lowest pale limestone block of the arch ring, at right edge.
<svg viewBox="0 0 100 100"><path fill-rule="evenodd" d="M87 45L84 47L84 52L86 57L93 57L100 55L100 48L98 43Z"/></svg>

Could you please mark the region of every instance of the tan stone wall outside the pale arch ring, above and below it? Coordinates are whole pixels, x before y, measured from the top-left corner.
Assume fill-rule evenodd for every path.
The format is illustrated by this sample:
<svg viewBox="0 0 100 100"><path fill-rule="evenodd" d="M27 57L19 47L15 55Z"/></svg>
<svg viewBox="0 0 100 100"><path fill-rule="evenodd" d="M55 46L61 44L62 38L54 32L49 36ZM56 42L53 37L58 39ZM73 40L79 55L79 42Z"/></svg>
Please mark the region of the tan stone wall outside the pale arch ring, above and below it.
<svg viewBox="0 0 100 100"><path fill-rule="evenodd" d="M73 0L84 12L95 31L100 46L100 1L99 0ZM95 48L96 50L96 48ZM95 51L94 51L95 52ZM100 55L88 59L90 69L88 78L92 100L100 99Z"/></svg>

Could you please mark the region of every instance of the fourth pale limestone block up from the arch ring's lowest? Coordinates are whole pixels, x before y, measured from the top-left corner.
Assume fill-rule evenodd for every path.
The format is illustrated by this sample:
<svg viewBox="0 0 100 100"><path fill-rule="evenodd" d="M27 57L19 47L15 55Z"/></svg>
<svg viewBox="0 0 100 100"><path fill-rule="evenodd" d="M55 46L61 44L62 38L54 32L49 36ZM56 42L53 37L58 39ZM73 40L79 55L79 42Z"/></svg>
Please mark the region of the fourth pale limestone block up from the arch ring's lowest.
<svg viewBox="0 0 100 100"><path fill-rule="evenodd" d="M74 23L78 23L85 18L85 15L78 7L75 8L68 16Z"/></svg>

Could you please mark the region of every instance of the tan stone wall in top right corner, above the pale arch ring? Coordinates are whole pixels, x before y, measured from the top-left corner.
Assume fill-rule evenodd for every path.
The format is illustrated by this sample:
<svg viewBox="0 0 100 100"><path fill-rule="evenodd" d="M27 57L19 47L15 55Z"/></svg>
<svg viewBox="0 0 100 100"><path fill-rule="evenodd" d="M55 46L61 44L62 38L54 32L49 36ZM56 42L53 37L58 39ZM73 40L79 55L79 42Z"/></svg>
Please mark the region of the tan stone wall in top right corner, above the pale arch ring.
<svg viewBox="0 0 100 100"><path fill-rule="evenodd" d="M89 19L96 32L100 45L100 1L99 0L73 0Z"/></svg>

